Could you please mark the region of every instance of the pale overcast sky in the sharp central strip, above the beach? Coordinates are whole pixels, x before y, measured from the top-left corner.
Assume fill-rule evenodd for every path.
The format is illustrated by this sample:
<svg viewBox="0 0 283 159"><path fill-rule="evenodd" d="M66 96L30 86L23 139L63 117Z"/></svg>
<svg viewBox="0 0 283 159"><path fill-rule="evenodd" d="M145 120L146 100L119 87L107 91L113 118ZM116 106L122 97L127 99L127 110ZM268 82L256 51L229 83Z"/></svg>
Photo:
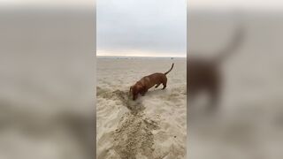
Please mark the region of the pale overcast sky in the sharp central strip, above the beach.
<svg viewBox="0 0 283 159"><path fill-rule="evenodd" d="M186 57L186 0L97 0L98 56Z"/></svg>

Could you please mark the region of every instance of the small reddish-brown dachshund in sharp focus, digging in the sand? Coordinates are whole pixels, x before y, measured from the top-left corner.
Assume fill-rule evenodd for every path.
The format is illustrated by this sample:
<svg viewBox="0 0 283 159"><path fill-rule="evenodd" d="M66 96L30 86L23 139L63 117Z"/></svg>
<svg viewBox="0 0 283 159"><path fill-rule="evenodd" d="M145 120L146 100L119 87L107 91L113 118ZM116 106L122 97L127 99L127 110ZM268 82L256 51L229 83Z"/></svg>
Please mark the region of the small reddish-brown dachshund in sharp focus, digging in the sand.
<svg viewBox="0 0 283 159"><path fill-rule="evenodd" d="M172 71L174 64L172 64L168 72L156 72L145 76L139 81L137 81L133 86L130 87L130 95L133 95L133 100L135 100L139 94L142 96L145 95L150 87L159 87L160 84L163 85L164 89L167 86L167 77L166 74Z"/></svg>

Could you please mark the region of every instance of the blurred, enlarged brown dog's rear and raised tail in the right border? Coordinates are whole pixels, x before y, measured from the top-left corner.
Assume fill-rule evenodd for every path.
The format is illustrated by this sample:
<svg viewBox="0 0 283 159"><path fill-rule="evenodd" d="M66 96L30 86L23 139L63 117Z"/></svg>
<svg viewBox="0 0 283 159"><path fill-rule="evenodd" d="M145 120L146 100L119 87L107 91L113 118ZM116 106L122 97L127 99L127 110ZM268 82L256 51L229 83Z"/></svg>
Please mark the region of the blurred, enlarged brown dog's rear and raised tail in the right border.
<svg viewBox="0 0 283 159"><path fill-rule="evenodd" d="M243 28L236 30L233 41L218 52L217 57L204 59L197 57L187 57L187 90L188 100L195 99L195 95L204 91L210 95L210 109L213 110L218 105L219 93L221 89L220 65L223 61L239 48L242 41ZM189 54L189 53L188 53Z"/></svg>

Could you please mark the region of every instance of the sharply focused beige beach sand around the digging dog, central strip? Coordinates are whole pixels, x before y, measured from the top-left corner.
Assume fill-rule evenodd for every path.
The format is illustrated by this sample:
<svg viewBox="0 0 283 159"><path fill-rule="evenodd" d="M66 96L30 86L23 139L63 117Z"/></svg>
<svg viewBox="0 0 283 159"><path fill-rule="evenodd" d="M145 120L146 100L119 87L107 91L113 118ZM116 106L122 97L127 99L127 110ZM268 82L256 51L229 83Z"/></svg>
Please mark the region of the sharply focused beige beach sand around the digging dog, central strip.
<svg viewBox="0 0 283 159"><path fill-rule="evenodd" d="M133 102L129 87L166 72L167 87L151 88ZM103 158L186 158L185 58L97 59L96 146Z"/></svg>

